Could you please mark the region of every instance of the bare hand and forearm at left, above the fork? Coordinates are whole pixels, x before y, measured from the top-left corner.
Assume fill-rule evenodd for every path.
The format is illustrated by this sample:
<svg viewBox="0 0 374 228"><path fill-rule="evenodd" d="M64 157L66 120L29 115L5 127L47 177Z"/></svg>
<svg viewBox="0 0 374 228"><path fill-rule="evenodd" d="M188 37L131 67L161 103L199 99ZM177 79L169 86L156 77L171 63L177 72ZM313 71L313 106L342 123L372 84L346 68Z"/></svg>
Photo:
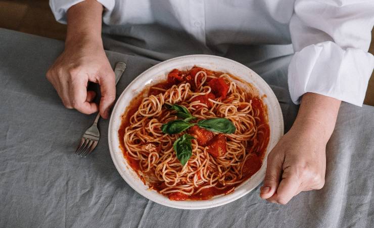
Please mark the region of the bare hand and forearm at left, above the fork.
<svg viewBox="0 0 374 228"><path fill-rule="evenodd" d="M86 0L69 8L65 50L46 73L67 108L90 114L100 110L107 119L115 95L115 76L101 39L103 5ZM101 100L87 91L89 82L100 85Z"/></svg>

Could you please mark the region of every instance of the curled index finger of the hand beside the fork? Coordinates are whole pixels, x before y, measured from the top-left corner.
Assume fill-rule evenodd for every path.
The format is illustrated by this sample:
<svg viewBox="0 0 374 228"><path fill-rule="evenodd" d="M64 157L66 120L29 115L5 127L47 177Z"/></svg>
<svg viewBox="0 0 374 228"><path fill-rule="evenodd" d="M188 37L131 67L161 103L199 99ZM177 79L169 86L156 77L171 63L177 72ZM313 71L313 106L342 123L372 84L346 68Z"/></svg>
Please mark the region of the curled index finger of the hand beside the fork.
<svg viewBox="0 0 374 228"><path fill-rule="evenodd" d="M91 102L95 97L94 91L87 92L88 78L83 75L72 75L69 81L70 104L78 111L91 114L97 112L99 107L95 102Z"/></svg>

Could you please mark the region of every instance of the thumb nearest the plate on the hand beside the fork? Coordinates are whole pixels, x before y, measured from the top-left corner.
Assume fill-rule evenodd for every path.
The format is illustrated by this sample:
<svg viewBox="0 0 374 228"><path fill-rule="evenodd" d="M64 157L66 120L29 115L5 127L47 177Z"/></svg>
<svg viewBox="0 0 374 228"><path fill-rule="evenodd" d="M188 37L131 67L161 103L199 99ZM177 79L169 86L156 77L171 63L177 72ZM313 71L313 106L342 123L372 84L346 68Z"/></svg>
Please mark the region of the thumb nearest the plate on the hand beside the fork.
<svg viewBox="0 0 374 228"><path fill-rule="evenodd" d="M101 91L100 115L102 118L107 119L109 117L109 110L116 98L115 75L111 68L105 70L100 75L99 85Z"/></svg>

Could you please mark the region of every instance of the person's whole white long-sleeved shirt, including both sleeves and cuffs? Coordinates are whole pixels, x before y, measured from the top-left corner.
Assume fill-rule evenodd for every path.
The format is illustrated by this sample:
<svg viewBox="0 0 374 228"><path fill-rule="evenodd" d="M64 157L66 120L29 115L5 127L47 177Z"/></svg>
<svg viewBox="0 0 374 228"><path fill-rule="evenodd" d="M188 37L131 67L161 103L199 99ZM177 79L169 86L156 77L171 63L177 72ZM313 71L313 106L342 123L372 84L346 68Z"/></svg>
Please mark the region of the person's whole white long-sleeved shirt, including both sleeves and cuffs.
<svg viewBox="0 0 374 228"><path fill-rule="evenodd" d="M50 0L59 22L83 0ZM290 44L288 83L297 104L306 92L362 106L374 68L368 53L374 0L97 0L108 25L161 24L205 46Z"/></svg>

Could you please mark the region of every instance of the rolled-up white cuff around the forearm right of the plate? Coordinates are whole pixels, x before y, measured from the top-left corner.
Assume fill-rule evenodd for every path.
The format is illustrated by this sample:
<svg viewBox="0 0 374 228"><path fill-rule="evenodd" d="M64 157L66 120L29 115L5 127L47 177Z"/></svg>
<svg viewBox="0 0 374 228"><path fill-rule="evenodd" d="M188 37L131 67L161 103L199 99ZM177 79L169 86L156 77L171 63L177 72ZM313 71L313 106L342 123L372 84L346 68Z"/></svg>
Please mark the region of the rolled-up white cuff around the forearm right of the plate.
<svg viewBox="0 0 374 228"><path fill-rule="evenodd" d="M307 92L362 106L374 57L361 49L343 50L333 42L310 45L296 52L288 70L292 101Z"/></svg>

